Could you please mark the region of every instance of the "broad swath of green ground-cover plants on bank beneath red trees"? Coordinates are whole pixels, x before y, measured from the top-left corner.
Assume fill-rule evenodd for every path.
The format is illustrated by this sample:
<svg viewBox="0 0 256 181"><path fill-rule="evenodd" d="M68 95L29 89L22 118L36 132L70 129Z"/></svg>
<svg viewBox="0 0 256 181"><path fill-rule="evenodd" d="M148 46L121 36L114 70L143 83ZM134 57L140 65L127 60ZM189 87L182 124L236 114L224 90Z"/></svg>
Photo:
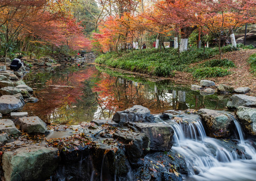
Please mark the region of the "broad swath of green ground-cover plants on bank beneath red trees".
<svg viewBox="0 0 256 181"><path fill-rule="evenodd" d="M240 46L244 48L244 46ZM223 48L223 52L238 50L232 46ZM158 49L145 49L142 52L109 52L99 56L95 62L113 68L148 73L155 76L174 76L175 71L194 72L195 78L216 77L230 74L228 67L234 67L234 63L227 59L213 59L205 63L191 67L191 63L197 63L209 59L218 54L217 48L190 48L180 53L174 48L167 48L159 52ZM208 68L207 68L208 67ZM223 68L220 68L223 67Z"/></svg>

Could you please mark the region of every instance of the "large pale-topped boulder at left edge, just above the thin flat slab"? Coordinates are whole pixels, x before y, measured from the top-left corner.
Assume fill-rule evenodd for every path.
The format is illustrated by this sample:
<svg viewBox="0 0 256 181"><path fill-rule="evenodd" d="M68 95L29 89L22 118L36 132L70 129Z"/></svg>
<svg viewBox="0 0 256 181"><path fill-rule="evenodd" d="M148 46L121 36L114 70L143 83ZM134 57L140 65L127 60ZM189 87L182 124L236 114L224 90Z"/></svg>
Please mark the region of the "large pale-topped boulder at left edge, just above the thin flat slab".
<svg viewBox="0 0 256 181"><path fill-rule="evenodd" d="M19 111L23 108L24 104L21 100L14 96L4 95L0 97L0 113L9 114L14 111Z"/></svg>

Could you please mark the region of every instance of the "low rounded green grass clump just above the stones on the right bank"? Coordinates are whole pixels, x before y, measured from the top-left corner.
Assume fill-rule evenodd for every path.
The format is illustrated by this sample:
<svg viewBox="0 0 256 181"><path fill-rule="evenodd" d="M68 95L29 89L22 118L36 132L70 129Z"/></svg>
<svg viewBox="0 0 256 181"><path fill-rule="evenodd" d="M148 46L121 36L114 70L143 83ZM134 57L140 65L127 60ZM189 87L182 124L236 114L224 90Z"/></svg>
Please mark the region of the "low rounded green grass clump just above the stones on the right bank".
<svg viewBox="0 0 256 181"><path fill-rule="evenodd" d="M231 74L231 72L227 68L204 67L195 69L192 74L197 79L203 79L207 77L222 77Z"/></svg>

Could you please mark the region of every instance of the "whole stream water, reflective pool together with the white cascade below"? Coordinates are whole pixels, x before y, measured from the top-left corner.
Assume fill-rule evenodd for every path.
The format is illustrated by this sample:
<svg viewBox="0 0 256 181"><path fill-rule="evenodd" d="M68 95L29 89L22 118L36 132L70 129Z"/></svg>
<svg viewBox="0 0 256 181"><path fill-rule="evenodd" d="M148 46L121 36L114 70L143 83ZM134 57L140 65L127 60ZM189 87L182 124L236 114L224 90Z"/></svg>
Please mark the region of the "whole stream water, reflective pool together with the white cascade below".
<svg viewBox="0 0 256 181"><path fill-rule="evenodd" d="M237 139L229 141L206 136L198 115L178 113L178 110L201 108L225 110L229 100L226 95L203 96L199 91L191 91L190 85L121 74L93 65L30 73L24 81L34 88L34 97L39 99L24 106L22 111L29 116L39 116L48 124L78 125L95 119L111 119L116 111L142 105L158 122L174 129L172 149L184 157L188 168L188 175L182 175L183 180L256 180L255 149L250 140L244 138L232 115ZM161 120L158 114L167 110L176 110L175 116L185 122ZM231 149L234 142L243 153ZM147 156L146 159L154 160ZM134 181L131 171L129 174L126 180ZM90 180L94 180L94 172Z"/></svg>

